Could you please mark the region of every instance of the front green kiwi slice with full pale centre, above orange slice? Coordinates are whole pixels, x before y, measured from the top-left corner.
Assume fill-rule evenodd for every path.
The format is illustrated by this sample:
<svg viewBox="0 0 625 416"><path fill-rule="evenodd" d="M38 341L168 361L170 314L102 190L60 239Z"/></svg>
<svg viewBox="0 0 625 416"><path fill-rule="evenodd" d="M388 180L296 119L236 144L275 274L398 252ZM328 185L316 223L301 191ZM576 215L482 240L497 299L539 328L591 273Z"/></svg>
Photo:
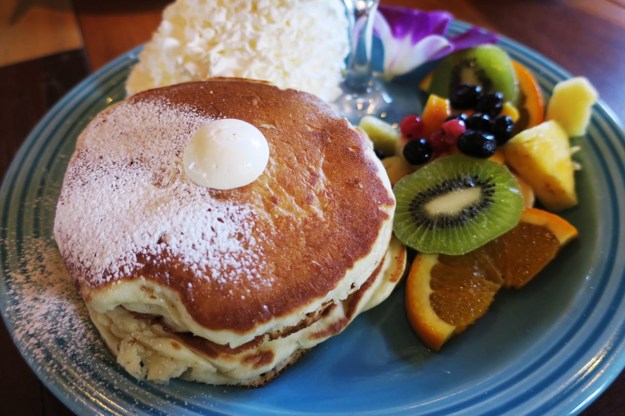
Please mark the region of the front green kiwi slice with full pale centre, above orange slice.
<svg viewBox="0 0 625 416"><path fill-rule="evenodd" d="M507 167L454 154L402 177L393 228L399 240L424 253L465 254L521 219L519 183Z"/></svg>

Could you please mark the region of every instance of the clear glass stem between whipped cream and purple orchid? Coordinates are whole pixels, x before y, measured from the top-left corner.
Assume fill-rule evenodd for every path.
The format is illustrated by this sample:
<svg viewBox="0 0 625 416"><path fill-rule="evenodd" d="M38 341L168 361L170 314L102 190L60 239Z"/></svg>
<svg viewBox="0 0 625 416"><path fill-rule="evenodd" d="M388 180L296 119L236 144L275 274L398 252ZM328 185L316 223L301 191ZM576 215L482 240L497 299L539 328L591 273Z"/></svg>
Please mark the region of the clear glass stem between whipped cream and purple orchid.
<svg viewBox="0 0 625 416"><path fill-rule="evenodd" d="M371 43L373 19L379 0L344 0L349 16L351 54L347 61L345 85L354 92L372 89Z"/></svg>

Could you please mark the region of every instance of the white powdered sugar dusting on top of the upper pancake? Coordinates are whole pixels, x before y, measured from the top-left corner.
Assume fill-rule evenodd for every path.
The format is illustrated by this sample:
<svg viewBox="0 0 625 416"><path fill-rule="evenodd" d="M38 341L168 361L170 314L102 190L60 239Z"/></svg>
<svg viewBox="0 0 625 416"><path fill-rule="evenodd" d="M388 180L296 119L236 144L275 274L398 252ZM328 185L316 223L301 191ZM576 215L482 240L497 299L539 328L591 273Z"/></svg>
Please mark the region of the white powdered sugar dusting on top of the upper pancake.
<svg viewBox="0 0 625 416"><path fill-rule="evenodd" d="M184 174L184 147L209 119L168 104L122 102L79 137L54 224L64 258L87 264L96 285L141 267L140 255L175 257L198 277L269 284L251 207Z"/></svg>

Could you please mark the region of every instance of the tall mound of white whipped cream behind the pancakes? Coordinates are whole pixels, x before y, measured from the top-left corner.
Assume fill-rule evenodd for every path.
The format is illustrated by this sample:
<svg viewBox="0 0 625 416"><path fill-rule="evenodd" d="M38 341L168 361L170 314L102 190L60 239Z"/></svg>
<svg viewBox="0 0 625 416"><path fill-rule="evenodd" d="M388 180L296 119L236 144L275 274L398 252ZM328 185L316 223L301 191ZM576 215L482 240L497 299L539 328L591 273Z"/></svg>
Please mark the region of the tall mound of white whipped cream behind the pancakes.
<svg viewBox="0 0 625 416"><path fill-rule="evenodd" d="M349 52L347 26L338 0L178 0L139 54L126 92L238 77L331 102Z"/></svg>

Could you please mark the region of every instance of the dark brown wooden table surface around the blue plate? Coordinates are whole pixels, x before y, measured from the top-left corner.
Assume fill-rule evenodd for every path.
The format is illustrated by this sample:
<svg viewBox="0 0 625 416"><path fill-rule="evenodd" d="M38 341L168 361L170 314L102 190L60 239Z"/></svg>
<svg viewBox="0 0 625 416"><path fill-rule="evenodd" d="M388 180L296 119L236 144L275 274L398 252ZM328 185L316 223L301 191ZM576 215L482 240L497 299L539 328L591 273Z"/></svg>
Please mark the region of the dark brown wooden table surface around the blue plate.
<svg viewBox="0 0 625 416"><path fill-rule="evenodd" d="M387 0L447 9L587 76L616 114L625 109L624 0ZM4 1L0 6L0 176L27 133L78 81L148 41L167 0ZM625 317L624 317L625 319ZM0 322L0 414L68 415ZM583 412L625 412L625 372Z"/></svg>

